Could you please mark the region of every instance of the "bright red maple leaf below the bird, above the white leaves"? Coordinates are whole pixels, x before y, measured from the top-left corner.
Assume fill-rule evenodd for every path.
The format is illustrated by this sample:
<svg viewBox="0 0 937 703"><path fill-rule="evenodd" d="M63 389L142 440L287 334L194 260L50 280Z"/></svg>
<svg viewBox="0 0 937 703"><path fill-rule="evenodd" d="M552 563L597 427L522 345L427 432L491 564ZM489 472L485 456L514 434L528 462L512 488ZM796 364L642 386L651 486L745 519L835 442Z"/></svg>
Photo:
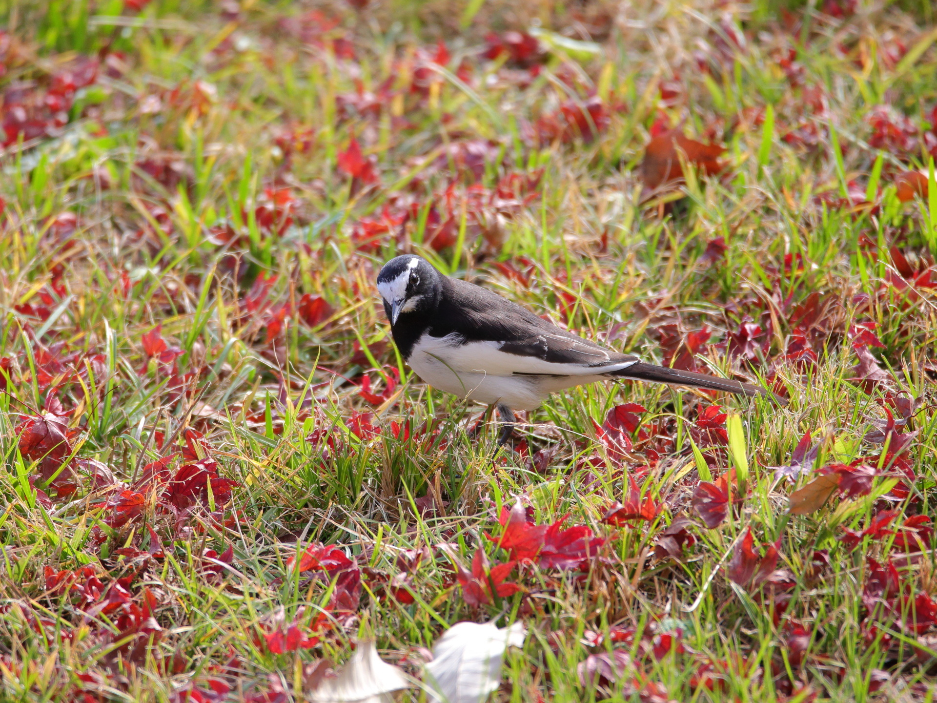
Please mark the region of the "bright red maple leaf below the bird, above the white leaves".
<svg viewBox="0 0 937 703"><path fill-rule="evenodd" d="M563 530L563 516L552 525L528 522L527 511L517 502L509 511L501 509L498 522L504 527L500 538L485 535L498 546L508 550L514 561L533 561L544 569L573 569L587 566L605 544L585 526Z"/></svg>

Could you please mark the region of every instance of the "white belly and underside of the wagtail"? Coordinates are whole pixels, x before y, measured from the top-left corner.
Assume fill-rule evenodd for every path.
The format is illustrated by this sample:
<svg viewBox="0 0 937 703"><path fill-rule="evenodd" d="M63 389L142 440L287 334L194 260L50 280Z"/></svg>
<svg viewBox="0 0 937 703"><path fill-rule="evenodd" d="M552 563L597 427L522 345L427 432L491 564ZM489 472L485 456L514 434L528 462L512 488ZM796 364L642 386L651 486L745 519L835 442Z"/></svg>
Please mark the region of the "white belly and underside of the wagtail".
<svg viewBox="0 0 937 703"><path fill-rule="evenodd" d="M479 363L473 364L470 352L474 350L470 347L474 345L460 345L460 341L424 335L414 345L408 364L417 376L441 391L485 405L503 403L512 410L533 410L550 393L604 379L602 375L522 376L514 375L509 369L504 369L508 373L499 375L490 369L473 367L491 365L486 363L487 358L479 358ZM479 351L483 350L480 348ZM482 354L485 356L486 350ZM523 357L511 356L523 365Z"/></svg>

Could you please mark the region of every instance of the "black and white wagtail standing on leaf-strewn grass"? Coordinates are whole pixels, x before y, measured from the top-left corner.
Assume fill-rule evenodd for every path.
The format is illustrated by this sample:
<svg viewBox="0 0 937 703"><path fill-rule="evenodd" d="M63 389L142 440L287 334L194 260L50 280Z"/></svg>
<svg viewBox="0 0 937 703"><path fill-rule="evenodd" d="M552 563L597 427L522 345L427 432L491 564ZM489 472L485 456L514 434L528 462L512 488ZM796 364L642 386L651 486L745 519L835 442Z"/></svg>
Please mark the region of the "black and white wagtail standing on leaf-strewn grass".
<svg viewBox="0 0 937 703"><path fill-rule="evenodd" d="M378 291L394 343L417 376L440 390L494 405L513 432L517 410L533 410L551 393L583 383L636 379L745 396L751 383L646 364L636 356L576 337L524 307L457 278L418 256L384 264Z"/></svg>

